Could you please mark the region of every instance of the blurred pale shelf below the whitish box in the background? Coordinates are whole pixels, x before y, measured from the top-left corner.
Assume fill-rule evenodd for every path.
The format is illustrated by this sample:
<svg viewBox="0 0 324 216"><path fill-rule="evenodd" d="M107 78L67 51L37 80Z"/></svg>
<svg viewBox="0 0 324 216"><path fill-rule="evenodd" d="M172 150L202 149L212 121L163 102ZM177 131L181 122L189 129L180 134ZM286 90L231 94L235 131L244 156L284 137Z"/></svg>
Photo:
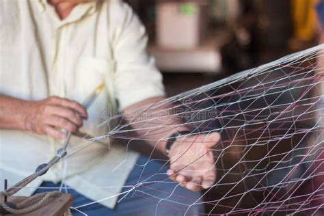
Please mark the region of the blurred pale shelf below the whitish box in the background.
<svg viewBox="0 0 324 216"><path fill-rule="evenodd" d="M221 72L221 44L224 43L219 42L219 38L211 38L195 49L171 50L151 45L148 51L163 72L218 74Z"/></svg>

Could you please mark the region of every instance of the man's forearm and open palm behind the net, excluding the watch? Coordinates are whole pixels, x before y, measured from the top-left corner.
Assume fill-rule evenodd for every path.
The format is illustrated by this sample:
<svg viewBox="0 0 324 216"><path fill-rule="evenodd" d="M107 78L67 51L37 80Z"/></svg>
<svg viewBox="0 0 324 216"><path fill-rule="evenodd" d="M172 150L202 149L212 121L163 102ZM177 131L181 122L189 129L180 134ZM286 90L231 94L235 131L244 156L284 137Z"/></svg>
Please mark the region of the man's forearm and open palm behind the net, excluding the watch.
<svg viewBox="0 0 324 216"><path fill-rule="evenodd" d="M183 124L183 120L175 116L174 105L154 104L161 100L163 97L156 97L131 105L126 108L124 116L139 137L148 140L151 146L164 153L166 140L173 133L190 131L190 129ZM152 103L154 105L151 107L139 109ZM170 179L191 191L211 187L216 178L215 159L211 148L218 143L219 139L220 135L217 132L178 137L167 154L170 159L167 175Z"/></svg>

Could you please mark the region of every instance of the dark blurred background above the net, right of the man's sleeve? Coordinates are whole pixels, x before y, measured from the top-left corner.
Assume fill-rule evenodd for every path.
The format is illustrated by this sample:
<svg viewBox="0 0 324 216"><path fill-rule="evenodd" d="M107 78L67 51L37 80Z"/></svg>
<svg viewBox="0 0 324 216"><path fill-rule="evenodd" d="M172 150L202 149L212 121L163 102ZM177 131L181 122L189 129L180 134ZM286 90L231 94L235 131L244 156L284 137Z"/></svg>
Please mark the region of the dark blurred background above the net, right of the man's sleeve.
<svg viewBox="0 0 324 216"><path fill-rule="evenodd" d="M125 0L172 96L316 44L316 0Z"/></svg>

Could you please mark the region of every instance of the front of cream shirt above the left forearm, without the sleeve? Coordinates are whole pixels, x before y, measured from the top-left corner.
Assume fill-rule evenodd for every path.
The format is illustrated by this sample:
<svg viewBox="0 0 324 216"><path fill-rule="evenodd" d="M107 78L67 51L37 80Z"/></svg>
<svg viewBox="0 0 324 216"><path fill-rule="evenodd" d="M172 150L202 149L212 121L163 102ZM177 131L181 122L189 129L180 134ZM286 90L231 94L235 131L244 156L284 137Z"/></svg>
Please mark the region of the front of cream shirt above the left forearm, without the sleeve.
<svg viewBox="0 0 324 216"><path fill-rule="evenodd" d="M3 11L0 94L25 100L59 96L83 103L104 83L105 89L88 108L84 128L92 131L105 120L103 110L116 109L115 63L107 14L87 10L79 8L66 21L59 21L53 8L39 11L32 3ZM18 15L11 18L11 13Z"/></svg>

